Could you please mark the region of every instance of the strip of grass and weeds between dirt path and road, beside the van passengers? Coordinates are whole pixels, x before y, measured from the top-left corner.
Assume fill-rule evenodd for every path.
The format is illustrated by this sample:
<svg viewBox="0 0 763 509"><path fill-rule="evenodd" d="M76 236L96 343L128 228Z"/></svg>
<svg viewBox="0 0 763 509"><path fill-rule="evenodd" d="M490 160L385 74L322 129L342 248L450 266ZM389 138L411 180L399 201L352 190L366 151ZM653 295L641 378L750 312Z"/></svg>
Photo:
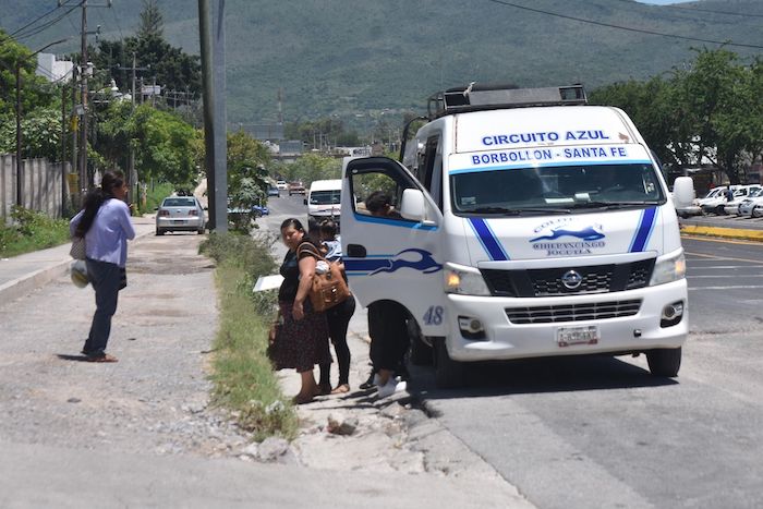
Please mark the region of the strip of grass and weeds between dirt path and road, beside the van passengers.
<svg viewBox="0 0 763 509"><path fill-rule="evenodd" d="M296 412L265 353L277 295L252 294L253 281L276 269L267 240L213 233L199 250L218 262L220 329L214 344L213 401L229 409L256 440L274 435L291 439L299 426Z"/></svg>

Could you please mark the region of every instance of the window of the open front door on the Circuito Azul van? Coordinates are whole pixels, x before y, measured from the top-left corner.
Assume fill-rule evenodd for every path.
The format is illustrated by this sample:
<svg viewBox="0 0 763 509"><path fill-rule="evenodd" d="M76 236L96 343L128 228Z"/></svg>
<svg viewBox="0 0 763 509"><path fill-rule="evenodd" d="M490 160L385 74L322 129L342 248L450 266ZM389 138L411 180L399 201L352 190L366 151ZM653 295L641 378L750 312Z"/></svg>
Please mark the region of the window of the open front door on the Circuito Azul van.
<svg viewBox="0 0 763 509"><path fill-rule="evenodd" d="M350 178L354 196L354 210L364 216L384 217L405 221L398 210L402 192L415 187L399 174L389 173L384 168L364 169Z"/></svg>

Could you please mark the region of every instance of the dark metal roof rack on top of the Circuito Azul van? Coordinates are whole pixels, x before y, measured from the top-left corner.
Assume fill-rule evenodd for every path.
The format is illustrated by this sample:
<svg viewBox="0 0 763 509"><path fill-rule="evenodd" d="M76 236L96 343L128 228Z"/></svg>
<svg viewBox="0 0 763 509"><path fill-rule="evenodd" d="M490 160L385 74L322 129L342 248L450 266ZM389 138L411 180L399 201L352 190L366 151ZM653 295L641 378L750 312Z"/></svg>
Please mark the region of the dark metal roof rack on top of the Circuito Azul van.
<svg viewBox="0 0 763 509"><path fill-rule="evenodd" d="M529 106L585 105L583 85L517 88L514 85L480 85L450 88L433 94L427 102L429 119L464 111L524 108Z"/></svg>

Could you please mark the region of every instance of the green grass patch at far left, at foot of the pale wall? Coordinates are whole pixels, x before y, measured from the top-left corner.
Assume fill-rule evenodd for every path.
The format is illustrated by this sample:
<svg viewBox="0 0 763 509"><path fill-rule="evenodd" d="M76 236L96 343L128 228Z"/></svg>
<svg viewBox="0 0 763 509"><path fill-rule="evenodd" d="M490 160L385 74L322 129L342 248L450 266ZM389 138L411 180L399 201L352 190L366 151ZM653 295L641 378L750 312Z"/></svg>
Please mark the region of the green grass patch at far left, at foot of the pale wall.
<svg viewBox="0 0 763 509"><path fill-rule="evenodd" d="M0 256L17 256L69 242L69 221L13 207L13 223L0 225Z"/></svg>

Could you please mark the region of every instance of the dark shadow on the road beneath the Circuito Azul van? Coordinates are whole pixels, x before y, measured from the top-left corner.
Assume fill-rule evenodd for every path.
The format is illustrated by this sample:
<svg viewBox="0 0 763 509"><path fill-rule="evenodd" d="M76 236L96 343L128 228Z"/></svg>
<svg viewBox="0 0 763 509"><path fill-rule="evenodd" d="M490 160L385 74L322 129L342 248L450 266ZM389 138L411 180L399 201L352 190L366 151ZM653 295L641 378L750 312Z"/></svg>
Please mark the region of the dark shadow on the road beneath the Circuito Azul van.
<svg viewBox="0 0 763 509"><path fill-rule="evenodd" d="M410 391L423 399L658 387L678 384L608 355L566 356L467 365L468 385L438 389L432 367L412 366Z"/></svg>

